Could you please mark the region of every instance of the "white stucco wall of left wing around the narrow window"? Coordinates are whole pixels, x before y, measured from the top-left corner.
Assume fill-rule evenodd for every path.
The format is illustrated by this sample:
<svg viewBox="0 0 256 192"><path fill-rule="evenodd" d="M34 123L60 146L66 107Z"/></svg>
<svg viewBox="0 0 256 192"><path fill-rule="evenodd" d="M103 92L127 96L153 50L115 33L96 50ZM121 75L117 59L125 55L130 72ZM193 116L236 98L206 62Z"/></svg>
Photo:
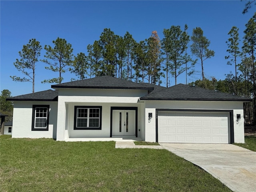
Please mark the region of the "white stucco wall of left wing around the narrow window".
<svg viewBox="0 0 256 192"><path fill-rule="evenodd" d="M32 106L49 105L48 131L32 131ZM12 138L56 138L58 102L15 101L12 121Z"/></svg>

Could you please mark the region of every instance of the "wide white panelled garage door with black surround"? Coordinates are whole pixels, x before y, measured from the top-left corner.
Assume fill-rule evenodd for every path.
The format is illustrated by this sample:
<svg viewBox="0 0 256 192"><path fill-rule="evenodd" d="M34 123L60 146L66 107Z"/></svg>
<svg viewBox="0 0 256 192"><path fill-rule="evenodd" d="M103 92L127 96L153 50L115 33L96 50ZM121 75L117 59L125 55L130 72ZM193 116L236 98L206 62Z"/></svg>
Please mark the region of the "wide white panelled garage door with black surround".
<svg viewBox="0 0 256 192"><path fill-rule="evenodd" d="M158 112L158 142L228 143L227 112Z"/></svg>

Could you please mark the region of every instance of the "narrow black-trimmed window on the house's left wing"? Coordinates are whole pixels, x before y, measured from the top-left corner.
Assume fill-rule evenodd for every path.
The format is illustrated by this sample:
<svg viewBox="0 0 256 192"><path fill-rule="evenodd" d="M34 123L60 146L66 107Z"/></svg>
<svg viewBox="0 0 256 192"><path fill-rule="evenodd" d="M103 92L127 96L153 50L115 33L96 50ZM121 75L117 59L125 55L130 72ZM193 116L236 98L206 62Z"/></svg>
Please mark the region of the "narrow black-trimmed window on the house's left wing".
<svg viewBox="0 0 256 192"><path fill-rule="evenodd" d="M48 131L50 105L33 105L32 131Z"/></svg>

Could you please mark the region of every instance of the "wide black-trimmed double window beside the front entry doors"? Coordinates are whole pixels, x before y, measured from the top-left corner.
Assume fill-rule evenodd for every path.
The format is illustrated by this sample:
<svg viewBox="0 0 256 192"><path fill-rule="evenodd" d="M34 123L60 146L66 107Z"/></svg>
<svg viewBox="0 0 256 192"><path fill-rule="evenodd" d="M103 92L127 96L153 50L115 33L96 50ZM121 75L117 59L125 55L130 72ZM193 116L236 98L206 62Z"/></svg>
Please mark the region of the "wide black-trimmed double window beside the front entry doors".
<svg viewBox="0 0 256 192"><path fill-rule="evenodd" d="M100 130L102 106L75 106L74 130Z"/></svg>

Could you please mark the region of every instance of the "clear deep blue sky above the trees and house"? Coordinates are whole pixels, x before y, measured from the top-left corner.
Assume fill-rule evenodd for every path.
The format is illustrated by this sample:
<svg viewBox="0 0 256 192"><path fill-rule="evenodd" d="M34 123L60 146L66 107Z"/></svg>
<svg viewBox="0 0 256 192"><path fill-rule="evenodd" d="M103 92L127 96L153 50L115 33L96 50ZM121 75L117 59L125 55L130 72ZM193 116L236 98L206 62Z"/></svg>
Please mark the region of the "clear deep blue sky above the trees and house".
<svg viewBox="0 0 256 192"><path fill-rule="evenodd" d="M164 28L172 25L188 25L188 33L200 27L211 44L215 56L204 63L206 78L215 76L225 79L225 74L234 72L234 66L227 65L225 56L228 32L237 26L242 37L245 24L253 16L255 6L247 14L242 14L245 1L0 1L0 90L8 89L12 96L32 92L32 83L14 82L10 76L20 76L14 67L22 46L36 38L44 48L57 37L65 38L72 44L73 54L87 54L86 47L98 40L104 28L124 36L126 31L139 42L150 37L156 30L160 39ZM41 59L45 51L42 49ZM41 84L44 79L58 74L44 69L46 64L37 63L35 92L50 89L51 84ZM196 64L195 70L200 70ZM66 72L63 82L76 78ZM188 77L188 82L200 79L200 75ZM186 83L179 76L178 83ZM171 78L171 86L175 84ZM165 86L162 84L162 86Z"/></svg>

